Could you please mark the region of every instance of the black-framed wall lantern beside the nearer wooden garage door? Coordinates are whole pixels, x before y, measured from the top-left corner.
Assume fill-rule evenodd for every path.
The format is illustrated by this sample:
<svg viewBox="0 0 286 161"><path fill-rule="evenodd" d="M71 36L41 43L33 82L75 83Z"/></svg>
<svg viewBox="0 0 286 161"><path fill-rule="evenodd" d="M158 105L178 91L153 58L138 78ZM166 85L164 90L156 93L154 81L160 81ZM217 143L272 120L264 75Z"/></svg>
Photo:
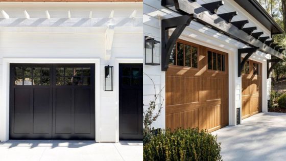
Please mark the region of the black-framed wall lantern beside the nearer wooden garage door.
<svg viewBox="0 0 286 161"><path fill-rule="evenodd" d="M154 38L145 37L145 64L160 65L161 47L160 41Z"/></svg>

